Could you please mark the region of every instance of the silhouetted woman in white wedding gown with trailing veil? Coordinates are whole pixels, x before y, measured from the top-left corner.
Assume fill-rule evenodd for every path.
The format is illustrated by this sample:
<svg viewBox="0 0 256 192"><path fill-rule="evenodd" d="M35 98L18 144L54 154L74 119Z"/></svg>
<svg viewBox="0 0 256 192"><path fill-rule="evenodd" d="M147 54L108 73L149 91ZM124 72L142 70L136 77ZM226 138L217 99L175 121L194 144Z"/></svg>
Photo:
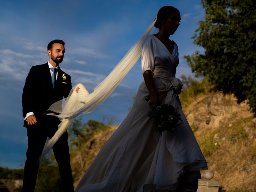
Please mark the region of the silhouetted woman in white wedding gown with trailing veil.
<svg viewBox="0 0 256 192"><path fill-rule="evenodd" d="M175 78L179 63L178 46L169 37L177 30L179 23L178 9L172 6L160 8L154 24L159 28L158 33L142 38L142 48L136 47L140 43L132 48L132 51L138 49L138 53L141 53L144 81L138 88L136 100L129 114L101 148L80 180L76 192L196 192L198 178L201 177L200 170L207 169L207 163L182 112L178 97L183 85ZM126 58L131 58L129 54L130 52L122 62ZM135 64L137 60L135 57L126 63L130 66L130 62ZM122 73L125 70L128 72L131 68L119 67L118 64L109 75L114 80L119 78L116 84L122 78L115 70L118 69ZM105 83L103 81L97 86L92 94L89 94L82 84L78 84L75 88L78 94L73 92L67 103L72 100L79 102L66 105L64 110L59 109L61 103L50 108L61 113L58 117L66 118L62 120L59 130L65 126L67 128L74 116L95 108L96 95L102 96L95 92L100 87L106 87ZM113 90L115 86L111 83L110 88ZM104 90L105 94L107 90ZM110 93L106 94L106 97ZM74 95L75 97L72 97ZM146 98L149 97L150 101L147 102ZM98 103L104 101L101 98L98 100ZM163 104L174 106L182 121L175 130L164 131L160 136L154 130L148 113L152 108ZM56 138L58 139L58 136Z"/></svg>

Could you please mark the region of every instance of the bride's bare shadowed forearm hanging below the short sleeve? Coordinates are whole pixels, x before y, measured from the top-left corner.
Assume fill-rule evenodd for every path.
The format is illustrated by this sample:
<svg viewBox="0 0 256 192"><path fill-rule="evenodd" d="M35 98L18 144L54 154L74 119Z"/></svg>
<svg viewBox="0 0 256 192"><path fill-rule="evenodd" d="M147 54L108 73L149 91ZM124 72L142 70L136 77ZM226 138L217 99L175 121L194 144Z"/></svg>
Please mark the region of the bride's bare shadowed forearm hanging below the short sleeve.
<svg viewBox="0 0 256 192"><path fill-rule="evenodd" d="M158 106L158 96L156 93L156 89L154 86L153 76L151 70L146 70L143 74L145 84L148 88L148 92L150 94L150 102L149 106L151 108L156 108Z"/></svg>

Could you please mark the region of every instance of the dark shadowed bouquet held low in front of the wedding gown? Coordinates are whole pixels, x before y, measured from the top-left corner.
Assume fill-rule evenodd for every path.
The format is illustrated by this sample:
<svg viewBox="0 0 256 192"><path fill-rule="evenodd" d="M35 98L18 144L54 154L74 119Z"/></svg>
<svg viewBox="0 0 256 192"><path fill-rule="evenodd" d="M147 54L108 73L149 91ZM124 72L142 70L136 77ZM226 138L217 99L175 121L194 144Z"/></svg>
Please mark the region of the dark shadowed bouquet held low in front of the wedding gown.
<svg viewBox="0 0 256 192"><path fill-rule="evenodd" d="M172 132L179 121L182 121L180 114L172 105L164 104L157 106L151 112L148 113L150 119L154 122L154 128L156 132L162 136L162 132Z"/></svg>

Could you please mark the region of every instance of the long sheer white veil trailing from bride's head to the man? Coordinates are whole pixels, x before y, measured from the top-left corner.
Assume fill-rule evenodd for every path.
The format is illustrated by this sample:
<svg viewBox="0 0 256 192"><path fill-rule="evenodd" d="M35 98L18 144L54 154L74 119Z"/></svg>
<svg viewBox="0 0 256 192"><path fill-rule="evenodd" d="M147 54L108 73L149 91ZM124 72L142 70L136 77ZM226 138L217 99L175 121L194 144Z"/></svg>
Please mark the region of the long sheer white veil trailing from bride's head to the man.
<svg viewBox="0 0 256 192"><path fill-rule="evenodd" d="M132 69L134 64L141 57L142 44L152 30L156 18L141 36L141 38L132 46L132 48L126 53L126 55L120 60L116 67L110 72L110 74L94 88L92 93L89 93L84 85L77 84L74 86L73 90L79 87L78 93L76 91L71 91L66 100L60 100L50 106L48 110L59 113L55 115L61 119L61 123L58 125L58 130L54 136L46 144L41 158L46 155L52 146L58 141L60 136L66 132L73 118L82 113L90 113L100 106L110 94L115 90L118 84L126 76L126 74ZM64 108L62 109L62 103L65 102Z"/></svg>

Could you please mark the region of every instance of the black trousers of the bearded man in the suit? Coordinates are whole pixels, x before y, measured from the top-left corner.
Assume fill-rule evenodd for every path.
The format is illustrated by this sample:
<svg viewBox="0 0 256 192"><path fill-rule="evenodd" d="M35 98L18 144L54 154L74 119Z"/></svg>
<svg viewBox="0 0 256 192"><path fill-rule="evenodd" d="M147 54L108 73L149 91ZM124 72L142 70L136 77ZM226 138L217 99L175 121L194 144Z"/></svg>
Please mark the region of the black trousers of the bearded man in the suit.
<svg viewBox="0 0 256 192"><path fill-rule="evenodd" d="M37 118L37 121L38 124L27 127L28 149L24 167L23 192L34 192L39 168L38 158L42 153L47 137L52 138L60 123L59 119L55 116L47 115ZM59 166L63 191L74 192L68 147L68 133L65 132L52 148Z"/></svg>

